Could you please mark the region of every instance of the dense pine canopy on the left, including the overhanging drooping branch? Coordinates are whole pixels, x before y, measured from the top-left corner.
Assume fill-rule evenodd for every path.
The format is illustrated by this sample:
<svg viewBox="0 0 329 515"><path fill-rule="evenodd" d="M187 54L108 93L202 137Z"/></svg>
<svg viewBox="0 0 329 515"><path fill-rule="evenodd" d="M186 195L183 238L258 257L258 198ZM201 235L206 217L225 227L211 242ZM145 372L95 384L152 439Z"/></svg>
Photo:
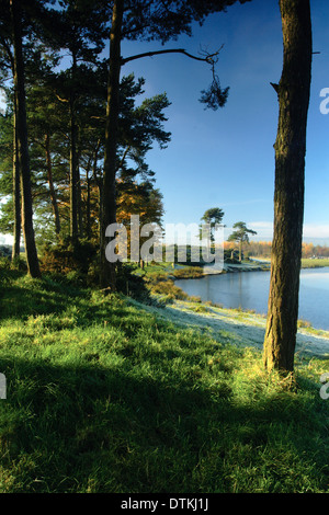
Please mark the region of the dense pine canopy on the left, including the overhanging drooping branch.
<svg viewBox="0 0 329 515"><path fill-rule="evenodd" d="M39 275L35 239L69 237L76 244L94 238L104 260L105 228L126 216L128 205L139 205L146 217L149 206L160 220L161 193L146 156L155 144L166 148L170 141L163 125L169 100L159 92L136 105L143 79L122 78L121 70L147 56L122 56L121 42L159 42L162 49L148 55L182 53L208 64L213 81L201 101L211 108L224 106L228 88L222 90L216 73L220 47L193 56L166 45L181 34L191 36L194 22L202 25L234 3L95 0L90 10L86 0L2 2L0 80L8 110L0 160L8 203L1 225L14 230L15 255L23 229L32 275ZM103 58L109 42L110 58Z"/></svg>

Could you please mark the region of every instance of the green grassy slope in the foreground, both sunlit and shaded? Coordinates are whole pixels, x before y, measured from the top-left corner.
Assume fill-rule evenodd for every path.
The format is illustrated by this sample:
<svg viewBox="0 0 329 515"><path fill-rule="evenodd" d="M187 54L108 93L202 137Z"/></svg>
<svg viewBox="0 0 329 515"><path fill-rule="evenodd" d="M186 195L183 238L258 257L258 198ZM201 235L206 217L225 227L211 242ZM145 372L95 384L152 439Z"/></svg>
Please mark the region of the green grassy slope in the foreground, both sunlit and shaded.
<svg viewBox="0 0 329 515"><path fill-rule="evenodd" d="M1 493L328 492L328 362L292 386L123 296L0 281Z"/></svg>

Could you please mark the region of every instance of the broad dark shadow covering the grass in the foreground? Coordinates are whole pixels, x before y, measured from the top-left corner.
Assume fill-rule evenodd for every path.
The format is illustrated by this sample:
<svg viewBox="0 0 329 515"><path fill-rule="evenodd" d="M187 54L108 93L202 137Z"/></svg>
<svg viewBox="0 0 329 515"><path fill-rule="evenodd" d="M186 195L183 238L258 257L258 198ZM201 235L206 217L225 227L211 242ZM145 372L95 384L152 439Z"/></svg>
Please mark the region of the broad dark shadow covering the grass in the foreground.
<svg viewBox="0 0 329 515"><path fill-rule="evenodd" d="M179 375L0 359L3 484L10 492L325 491L328 439L296 400L236 402ZM321 434L322 433L322 434ZM328 438L328 436L327 436ZM326 446L327 445L327 446ZM3 488L3 487L2 487Z"/></svg>

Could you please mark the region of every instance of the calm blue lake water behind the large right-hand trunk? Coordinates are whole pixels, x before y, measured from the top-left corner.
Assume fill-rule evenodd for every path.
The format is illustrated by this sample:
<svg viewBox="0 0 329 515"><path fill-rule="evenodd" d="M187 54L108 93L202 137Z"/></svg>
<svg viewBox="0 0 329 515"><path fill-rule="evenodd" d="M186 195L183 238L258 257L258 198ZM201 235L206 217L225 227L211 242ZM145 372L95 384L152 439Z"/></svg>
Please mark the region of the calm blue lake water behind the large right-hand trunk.
<svg viewBox="0 0 329 515"><path fill-rule="evenodd" d="M270 272L238 272L208 275L201 279L179 279L175 285L186 294L212 300L224 308L253 309L266 313ZM329 267L300 272L299 319L316 329L329 330Z"/></svg>

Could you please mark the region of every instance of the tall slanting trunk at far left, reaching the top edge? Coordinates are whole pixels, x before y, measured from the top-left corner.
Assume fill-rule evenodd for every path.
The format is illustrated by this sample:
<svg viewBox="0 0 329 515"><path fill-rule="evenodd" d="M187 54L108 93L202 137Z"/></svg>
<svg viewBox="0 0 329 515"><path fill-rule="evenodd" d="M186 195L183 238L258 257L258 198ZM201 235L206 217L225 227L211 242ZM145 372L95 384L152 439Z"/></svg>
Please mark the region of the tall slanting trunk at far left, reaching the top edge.
<svg viewBox="0 0 329 515"><path fill-rule="evenodd" d="M22 50L22 16L20 3L16 0L10 0L10 11L12 20L12 36L14 48L14 94L16 105L16 142L18 157L21 171L22 206L23 217L22 227L25 241L25 252L27 261L27 271L32 277L39 277L39 264L37 259L34 229L33 229L33 208L31 192L31 171L27 144L27 124L25 106L25 81L24 81L24 61Z"/></svg>

